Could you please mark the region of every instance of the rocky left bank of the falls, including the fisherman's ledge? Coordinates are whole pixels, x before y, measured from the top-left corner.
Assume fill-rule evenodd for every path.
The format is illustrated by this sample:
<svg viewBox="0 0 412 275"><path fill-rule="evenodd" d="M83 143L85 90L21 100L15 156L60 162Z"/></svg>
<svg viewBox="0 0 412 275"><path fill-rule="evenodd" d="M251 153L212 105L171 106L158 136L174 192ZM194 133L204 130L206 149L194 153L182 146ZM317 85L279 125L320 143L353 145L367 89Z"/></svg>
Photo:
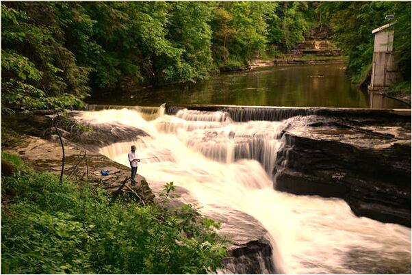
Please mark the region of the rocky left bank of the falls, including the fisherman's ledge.
<svg viewBox="0 0 412 275"><path fill-rule="evenodd" d="M66 128L61 128L60 134L64 140L64 178L88 177L92 185L112 192L116 192L123 181L129 177L130 169L99 154L97 148L114 142L131 140L132 136L134 138L136 135L146 135L136 129L114 128L110 125L103 125L102 129L94 127L94 131L85 132L77 138L73 137L77 142L70 142L70 132ZM81 144L79 140L82 141ZM5 152L20 155L36 170L60 174L62 147L55 129L51 127L49 116L19 114L5 117L2 121L1 142ZM101 170L108 170L110 175L102 176ZM159 188L155 187L155 192L152 192L150 183L147 183L144 176L140 174L137 180L140 184L131 186L127 182L122 192L129 196L137 194L143 204L155 202L155 193ZM178 187L177 193L181 192L185 190ZM177 203L181 204L179 201ZM240 211L234 212L236 213L230 215L230 218L216 216L214 213L208 214L210 218L221 222L220 233L231 240L229 257L224 259L225 268L222 272L226 274L275 273L276 268L272 261L273 248L266 235L266 229L250 215Z"/></svg>

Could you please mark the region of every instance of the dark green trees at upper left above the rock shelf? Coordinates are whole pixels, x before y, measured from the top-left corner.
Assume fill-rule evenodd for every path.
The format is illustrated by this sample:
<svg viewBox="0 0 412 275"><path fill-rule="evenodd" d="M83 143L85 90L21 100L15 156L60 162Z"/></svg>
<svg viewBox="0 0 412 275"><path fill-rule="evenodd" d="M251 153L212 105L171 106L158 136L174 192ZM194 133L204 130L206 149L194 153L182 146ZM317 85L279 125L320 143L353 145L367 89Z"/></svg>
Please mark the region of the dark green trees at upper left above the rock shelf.
<svg viewBox="0 0 412 275"><path fill-rule="evenodd" d="M68 107L88 95L90 69L77 66L64 46L67 9L57 2L1 4L2 107Z"/></svg>

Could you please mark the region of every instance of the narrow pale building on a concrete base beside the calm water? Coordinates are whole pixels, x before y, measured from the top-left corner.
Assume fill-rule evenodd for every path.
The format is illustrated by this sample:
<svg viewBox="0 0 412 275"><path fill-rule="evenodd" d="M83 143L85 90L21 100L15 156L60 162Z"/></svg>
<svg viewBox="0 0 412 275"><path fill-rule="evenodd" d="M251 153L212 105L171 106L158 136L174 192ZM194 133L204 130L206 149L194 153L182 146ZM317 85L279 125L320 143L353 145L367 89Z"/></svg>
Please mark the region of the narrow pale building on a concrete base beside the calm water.
<svg viewBox="0 0 412 275"><path fill-rule="evenodd" d="M376 91L402 79L394 59L394 25L396 21L372 31L375 35L370 90Z"/></svg>

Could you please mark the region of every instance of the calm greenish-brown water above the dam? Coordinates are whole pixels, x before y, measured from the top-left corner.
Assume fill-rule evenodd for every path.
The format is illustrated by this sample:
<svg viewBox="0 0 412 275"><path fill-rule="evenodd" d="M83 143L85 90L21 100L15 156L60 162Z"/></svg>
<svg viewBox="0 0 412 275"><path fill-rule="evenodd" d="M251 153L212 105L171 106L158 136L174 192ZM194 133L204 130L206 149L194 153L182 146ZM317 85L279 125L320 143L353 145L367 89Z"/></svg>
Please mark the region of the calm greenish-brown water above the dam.
<svg viewBox="0 0 412 275"><path fill-rule="evenodd" d="M409 108L387 97L370 95L350 83L345 64L270 66L226 73L198 83L146 88L123 96L95 99L105 105L190 104L290 107ZM372 104L373 103L373 104ZM372 106L373 105L373 106Z"/></svg>

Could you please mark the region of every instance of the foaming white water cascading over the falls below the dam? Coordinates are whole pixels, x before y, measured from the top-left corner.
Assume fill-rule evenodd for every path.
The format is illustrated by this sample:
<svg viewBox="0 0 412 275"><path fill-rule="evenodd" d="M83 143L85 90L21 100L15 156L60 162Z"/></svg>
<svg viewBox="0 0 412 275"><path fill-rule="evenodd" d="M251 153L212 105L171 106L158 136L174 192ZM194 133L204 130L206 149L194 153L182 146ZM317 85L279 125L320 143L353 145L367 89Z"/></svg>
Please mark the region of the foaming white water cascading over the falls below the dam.
<svg viewBox="0 0 412 275"><path fill-rule="evenodd" d="M180 110L150 122L136 110L80 112L92 124L110 123L143 129L149 136L101 148L101 153L129 166L135 144L142 160L138 173L153 189L164 183L188 189L183 201L204 213L243 211L270 233L274 263L281 272L402 273L411 270L411 229L356 217L337 198L276 192L271 172L283 122L232 122L224 112ZM153 158L152 158L153 157Z"/></svg>

